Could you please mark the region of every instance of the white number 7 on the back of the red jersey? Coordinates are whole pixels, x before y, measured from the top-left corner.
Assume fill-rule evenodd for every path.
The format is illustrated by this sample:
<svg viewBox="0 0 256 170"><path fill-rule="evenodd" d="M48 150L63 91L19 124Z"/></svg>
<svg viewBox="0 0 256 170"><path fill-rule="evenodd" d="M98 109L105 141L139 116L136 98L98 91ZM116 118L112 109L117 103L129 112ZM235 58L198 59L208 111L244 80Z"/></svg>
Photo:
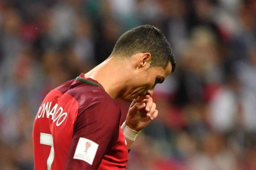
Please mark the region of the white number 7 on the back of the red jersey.
<svg viewBox="0 0 256 170"><path fill-rule="evenodd" d="M54 160L54 147L53 147L53 137L48 133L40 133L40 143L44 145L50 145L51 151L47 159L47 170L51 170L51 164Z"/></svg>

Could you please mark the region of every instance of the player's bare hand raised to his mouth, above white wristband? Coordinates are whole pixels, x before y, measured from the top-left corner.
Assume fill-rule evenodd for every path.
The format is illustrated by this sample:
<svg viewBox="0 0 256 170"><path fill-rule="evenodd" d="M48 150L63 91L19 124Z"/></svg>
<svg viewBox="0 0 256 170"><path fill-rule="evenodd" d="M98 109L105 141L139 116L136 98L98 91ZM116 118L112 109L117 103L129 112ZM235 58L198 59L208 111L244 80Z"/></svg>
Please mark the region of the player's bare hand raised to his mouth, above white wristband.
<svg viewBox="0 0 256 170"><path fill-rule="evenodd" d="M140 96L132 101L129 108L126 125L133 130L141 131L151 120L157 117L156 104L150 95Z"/></svg>

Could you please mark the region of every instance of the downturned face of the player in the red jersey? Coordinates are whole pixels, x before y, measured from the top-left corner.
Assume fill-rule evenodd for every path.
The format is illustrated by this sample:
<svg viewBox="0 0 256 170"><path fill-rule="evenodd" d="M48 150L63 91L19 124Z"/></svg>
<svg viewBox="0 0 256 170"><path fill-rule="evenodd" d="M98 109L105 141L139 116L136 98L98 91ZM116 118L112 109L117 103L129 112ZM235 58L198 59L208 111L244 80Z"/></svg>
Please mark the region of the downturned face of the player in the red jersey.
<svg viewBox="0 0 256 170"><path fill-rule="evenodd" d="M171 71L172 65L170 62L165 69L163 67L151 67L137 71L131 80L127 81L126 89L123 91L120 99L133 101L138 96L147 94L152 96L156 84L162 83Z"/></svg>

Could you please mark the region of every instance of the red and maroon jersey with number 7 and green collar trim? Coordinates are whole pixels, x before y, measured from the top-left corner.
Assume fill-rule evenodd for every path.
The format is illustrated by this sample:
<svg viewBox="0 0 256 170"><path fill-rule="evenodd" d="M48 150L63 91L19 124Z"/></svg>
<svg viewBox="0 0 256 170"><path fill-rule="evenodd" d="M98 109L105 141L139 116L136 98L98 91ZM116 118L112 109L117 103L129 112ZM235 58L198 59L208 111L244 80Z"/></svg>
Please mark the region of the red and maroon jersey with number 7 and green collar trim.
<svg viewBox="0 0 256 170"><path fill-rule="evenodd" d="M84 74L50 91L34 121L35 170L125 169L120 117L115 101Z"/></svg>

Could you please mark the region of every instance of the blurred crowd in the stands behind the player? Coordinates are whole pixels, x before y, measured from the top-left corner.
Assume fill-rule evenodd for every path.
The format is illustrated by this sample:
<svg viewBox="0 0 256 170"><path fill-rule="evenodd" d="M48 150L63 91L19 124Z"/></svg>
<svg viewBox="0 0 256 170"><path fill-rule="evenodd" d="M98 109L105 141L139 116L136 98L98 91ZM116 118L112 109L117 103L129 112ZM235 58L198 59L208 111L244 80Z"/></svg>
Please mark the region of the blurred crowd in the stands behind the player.
<svg viewBox="0 0 256 170"><path fill-rule="evenodd" d="M0 169L34 168L45 95L143 24L166 35L177 67L155 88L159 116L127 170L256 169L255 23L255 0L1 0ZM123 121L129 103L118 103Z"/></svg>

